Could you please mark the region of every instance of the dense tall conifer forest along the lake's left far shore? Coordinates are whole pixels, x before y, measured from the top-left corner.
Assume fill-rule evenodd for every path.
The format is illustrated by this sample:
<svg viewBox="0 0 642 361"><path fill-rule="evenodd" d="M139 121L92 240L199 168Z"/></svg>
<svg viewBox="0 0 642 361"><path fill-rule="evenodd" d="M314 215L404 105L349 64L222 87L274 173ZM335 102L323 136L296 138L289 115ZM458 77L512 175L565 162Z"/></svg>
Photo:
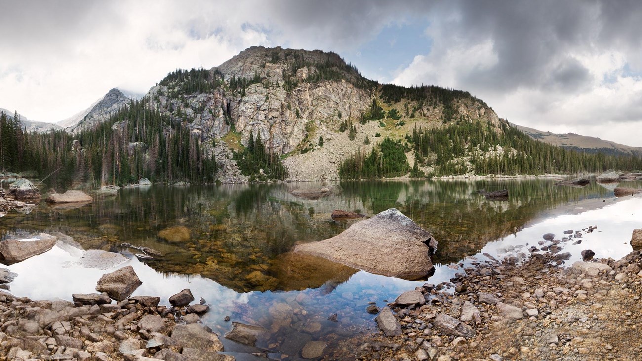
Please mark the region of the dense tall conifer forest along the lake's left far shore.
<svg viewBox="0 0 642 361"><path fill-rule="evenodd" d="M5 134L0 135L3 145L10 141ZM152 182L213 182L216 173L214 157L204 154L200 139L144 101L132 101L105 123L76 136L58 131L17 139L21 144L7 150L22 157L22 165L13 169L36 170L42 178L53 173L47 182L56 188L72 182L125 185L142 177Z"/></svg>

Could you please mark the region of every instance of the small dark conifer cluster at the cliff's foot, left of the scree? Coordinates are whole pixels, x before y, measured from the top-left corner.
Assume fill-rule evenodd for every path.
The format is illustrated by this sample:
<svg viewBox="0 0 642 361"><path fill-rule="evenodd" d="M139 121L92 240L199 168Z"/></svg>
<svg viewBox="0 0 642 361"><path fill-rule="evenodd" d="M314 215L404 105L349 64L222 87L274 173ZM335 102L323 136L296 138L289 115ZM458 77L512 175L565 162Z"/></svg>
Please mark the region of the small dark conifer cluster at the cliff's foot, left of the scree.
<svg viewBox="0 0 642 361"><path fill-rule="evenodd" d="M250 180L283 180L288 177L288 170L281 163L279 156L267 150L263 145L261 134L255 140L254 134L250 132L250 140L247 147L241 152L236 152L234 160L238 164L241 173L248 175Z"/></svg>

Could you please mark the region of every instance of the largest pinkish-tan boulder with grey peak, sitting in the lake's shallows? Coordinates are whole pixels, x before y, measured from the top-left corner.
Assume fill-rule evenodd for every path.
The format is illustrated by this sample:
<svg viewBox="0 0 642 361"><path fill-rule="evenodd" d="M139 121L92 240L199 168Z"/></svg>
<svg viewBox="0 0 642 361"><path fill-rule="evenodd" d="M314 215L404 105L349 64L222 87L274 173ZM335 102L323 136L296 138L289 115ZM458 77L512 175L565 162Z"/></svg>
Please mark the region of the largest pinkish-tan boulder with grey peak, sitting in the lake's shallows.
<svg viewBox="0 0 642 361"><path fill-rule="evenodd" d="M434 269L430 254L435 249L431 233L397 209L388 209L332 238L297 245L294 252L385 276L417 279Z"/></svg>

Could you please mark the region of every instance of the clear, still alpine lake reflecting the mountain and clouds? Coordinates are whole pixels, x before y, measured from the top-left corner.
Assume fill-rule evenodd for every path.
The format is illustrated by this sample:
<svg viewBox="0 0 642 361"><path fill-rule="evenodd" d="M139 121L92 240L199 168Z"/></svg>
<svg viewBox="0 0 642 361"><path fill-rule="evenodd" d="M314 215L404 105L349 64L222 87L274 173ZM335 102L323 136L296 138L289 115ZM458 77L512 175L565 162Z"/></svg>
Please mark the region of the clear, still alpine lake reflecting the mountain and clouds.
<svg viewBox="0 0 642 361"><path fill-rule="evenodd" d="M455 272L489 258L528 257L542 234L560 238L567 229L597 226L581 244L564 243L571 252L564 266L591 249L595 258L619 259L632 249L632 230L642 227L642 197L614 197L614 185L594 181L584 188L555 180L386 180L361 182L288 182L219 186L141 186L121 188L116 196L96 198L78 208L40 202L31 213L0 218L3 239L45 232L58 244L44 254L10 265L18 276L10 292L31 299L66 299L94 293L102 274L132 265L143 281L134 295L155 295L161 304L184 288L209 306L202 322L220 335L237 360L299 359L310 340L332 347L360 333L377 332L376 315L397 295L424 283L447 283ZM297 188L339 184L342 192L317 200L290 193ZM642 182L622 186L642 188ZM484 197L480 189L508 189L507 200ZM352 269L311 256L291 254L300 242L335 236L354 222L334 221L334 209L376 215L397 208L437 238L428 279L406 280ZM187 242L164 242L159 231L184 226ZM140 261L130 243L163 256ZM107 269L83 267L85 250L119 252L128 261ZM369 250L364 249L363 252ZM450 266L450 267L449 267ZM336 313L335 317L331 317ZM229 316L230 321L223 321ZM330 319L329 319L330 318ZM336 320L336 321L335 321ZM233 322L268 330L256 348L225 339Z"/></svg>

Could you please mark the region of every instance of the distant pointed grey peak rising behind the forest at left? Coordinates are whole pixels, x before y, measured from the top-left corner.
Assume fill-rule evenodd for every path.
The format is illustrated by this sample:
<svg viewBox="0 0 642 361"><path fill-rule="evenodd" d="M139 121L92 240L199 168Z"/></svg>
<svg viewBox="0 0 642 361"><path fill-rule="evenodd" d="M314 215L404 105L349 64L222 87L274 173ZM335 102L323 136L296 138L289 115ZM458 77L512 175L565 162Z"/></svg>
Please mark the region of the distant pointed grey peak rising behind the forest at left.
<svg viewBox="0 0 642 361"><path fill-rule="evenodd" d="M132 93L126 95L116 88L111 89L105 96L94 101L89 108L56 124L73 134L95 127L99 123L107 121L112 114L131 103L134 96Z"/></svg>

